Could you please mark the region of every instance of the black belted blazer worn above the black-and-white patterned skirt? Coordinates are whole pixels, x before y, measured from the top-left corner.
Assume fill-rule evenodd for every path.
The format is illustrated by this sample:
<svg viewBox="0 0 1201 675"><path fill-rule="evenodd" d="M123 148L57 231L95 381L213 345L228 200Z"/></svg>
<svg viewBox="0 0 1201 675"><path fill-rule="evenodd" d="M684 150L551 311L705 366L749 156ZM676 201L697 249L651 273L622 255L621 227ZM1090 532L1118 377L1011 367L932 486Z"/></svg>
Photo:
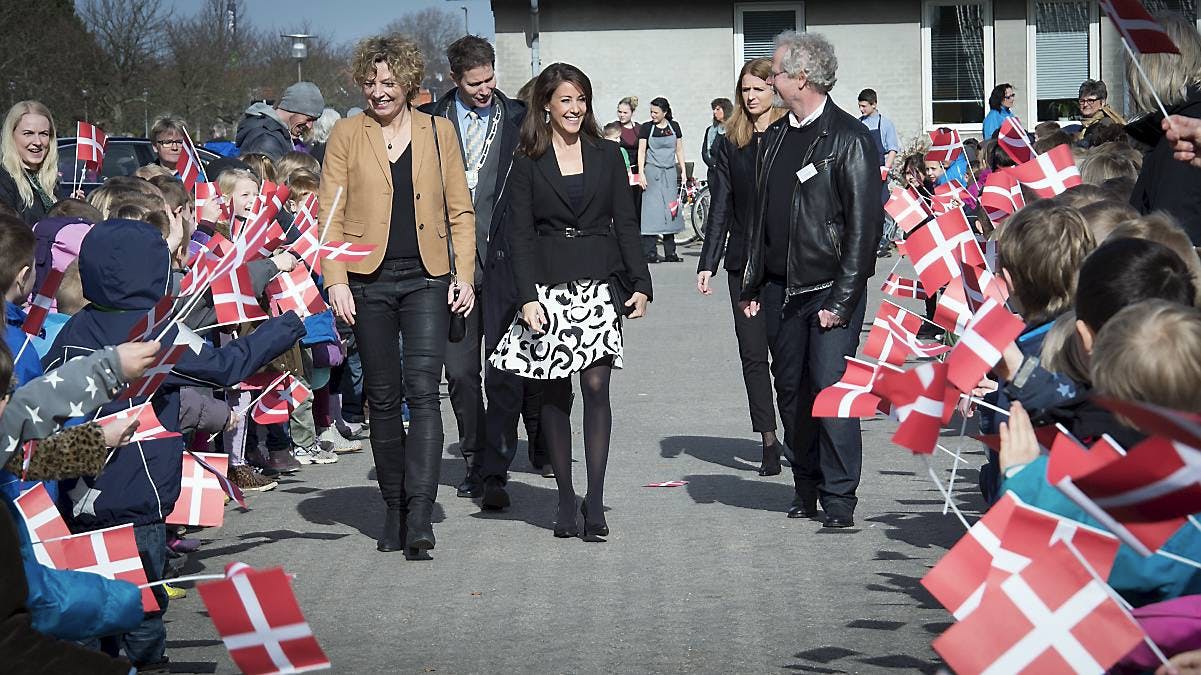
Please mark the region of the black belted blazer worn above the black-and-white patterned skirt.
<svg viewBox="0 0 1201 675"><path fill-rule="evenodd" d="M625 271L634 291L651 298L634 197L616 143L580 139L584 198L572 207L555 151L513 159L508 241L521 304L538 299L536 283L605 280Z"/></svg>

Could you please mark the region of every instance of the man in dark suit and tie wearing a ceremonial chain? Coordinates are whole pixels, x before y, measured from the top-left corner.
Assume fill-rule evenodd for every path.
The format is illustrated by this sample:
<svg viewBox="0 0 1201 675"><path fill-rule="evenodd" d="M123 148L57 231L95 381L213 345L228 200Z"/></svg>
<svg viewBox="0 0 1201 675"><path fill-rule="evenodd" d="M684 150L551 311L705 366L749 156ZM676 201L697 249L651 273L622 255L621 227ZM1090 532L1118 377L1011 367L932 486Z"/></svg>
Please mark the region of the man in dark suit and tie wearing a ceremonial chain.
<svg viewBox="0 0 1201 675"><path fill-rule="evenodd" d="M476 259L480 264L476 297L483 310L467 317L466 336L447 348L450 405L459 422L459 448L467 461L458 495L482 496L484 508L503 509L509 506L504 483L516 449L525 382L491 366L484 382L480 375L484 354L492 352L518 311L504 237L504 185L526 110L525 103L496 88L496 53L486 40L460 37L447 48L447 60L455 88L420 109L450 120L459 133L476 207ZM482 384L486 386L486 413Z"/></svg>

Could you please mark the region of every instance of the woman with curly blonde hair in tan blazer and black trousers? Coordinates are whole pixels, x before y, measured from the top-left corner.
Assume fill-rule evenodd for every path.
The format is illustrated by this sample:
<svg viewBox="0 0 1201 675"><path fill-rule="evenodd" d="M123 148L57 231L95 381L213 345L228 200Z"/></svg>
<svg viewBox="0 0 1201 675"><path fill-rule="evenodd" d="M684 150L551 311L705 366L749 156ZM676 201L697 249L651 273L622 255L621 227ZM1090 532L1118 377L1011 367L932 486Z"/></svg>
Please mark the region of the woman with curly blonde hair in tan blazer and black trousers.
<svg viewBox="0 0 1201 675"><path fill-rule="evenodd" d="M321 220L327 240L372 244L375 251L353 263L325 261L322 274L329 304L354 328L363 359L371 452L387 506L377 548L424 557L434 548L430 512L443 442L438 383L450 312L466 315L476 299L476 217L454 127L410 106L424 72L417 44L365 38L351 72L368 109L339 120L329 135ZM411 414L407 437L401 401Z"/></svg>

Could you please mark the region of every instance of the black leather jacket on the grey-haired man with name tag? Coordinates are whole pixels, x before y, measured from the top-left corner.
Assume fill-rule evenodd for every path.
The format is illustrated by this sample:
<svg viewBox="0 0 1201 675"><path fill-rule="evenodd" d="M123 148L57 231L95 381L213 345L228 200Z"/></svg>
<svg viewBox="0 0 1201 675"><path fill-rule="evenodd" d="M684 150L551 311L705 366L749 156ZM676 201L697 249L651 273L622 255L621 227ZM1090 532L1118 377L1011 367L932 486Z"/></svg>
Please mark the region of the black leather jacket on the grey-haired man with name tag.
<svg viewBox="0 0 1201 675"><path fill-rule="evenodd" d="M767 216L767 175L776 163L791 115L767 127L757 160L758 205L747 234L747 267L742 299L759 297L766 276L764 231ZM850 317L876 273L876 245L884 226L880 167L876 142L867 127L826 101L813 123L818 137L800 166L817 173L793 189L788 238L788 294L829 286L821 304L843 319ZM784 166L789 168L783 168ZM777 171L795 171L793 162Z"/></svg>

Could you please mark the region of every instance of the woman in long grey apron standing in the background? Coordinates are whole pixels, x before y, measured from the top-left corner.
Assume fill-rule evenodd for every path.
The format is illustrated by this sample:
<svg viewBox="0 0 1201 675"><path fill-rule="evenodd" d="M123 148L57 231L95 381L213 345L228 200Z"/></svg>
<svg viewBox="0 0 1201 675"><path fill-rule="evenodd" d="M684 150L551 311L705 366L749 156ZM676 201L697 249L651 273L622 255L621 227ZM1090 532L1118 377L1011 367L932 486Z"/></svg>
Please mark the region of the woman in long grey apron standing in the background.
<svg viewBox="0 0 1201 675"><path fill-rule="evenodd" d="M638 175L643 193L643 252L646 262L659 262L656 239L663 235L663 262L682 262L675 252L675 233L683 229L680 172L683 169L683 133L671 120L671 106L662 96L651 101L651 121L638 133Z"/></svg>

